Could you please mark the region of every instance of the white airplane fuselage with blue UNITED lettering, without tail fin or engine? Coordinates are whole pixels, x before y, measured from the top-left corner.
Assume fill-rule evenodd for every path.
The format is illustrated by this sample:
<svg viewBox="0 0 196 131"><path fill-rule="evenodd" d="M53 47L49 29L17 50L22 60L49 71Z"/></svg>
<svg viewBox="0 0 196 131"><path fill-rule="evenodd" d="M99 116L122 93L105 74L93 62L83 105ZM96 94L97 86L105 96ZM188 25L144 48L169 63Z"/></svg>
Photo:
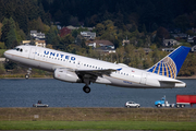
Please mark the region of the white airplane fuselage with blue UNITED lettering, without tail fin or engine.
<svg viewBox="0 0 196 131"><path fill-rule="evenodd" d="M103 74L101 78L98 76L96 83L140 88L186 86L182 81L131 68L123 63L117 64L36 46L19 46L17 48L22 49L22 51L12 49L5 51L4 56L27 67L51 72L58 68L71 69L73 71L121 69L113 71L110 75Z"/></svg>

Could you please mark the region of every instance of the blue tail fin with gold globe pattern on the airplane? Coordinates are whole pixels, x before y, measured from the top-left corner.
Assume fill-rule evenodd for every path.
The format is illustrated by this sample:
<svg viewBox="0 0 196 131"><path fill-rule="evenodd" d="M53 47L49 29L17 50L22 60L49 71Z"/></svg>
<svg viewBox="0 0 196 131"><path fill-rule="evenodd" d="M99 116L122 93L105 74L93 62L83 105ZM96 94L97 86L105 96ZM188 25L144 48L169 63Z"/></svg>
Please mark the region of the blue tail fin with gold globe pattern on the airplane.
<svg viewBox="0 0 196 131"><path fill-rule="evenodd" d="M189 49L189 47L180 46L155 66L147 69L147 72L175 79Z"/></svg>

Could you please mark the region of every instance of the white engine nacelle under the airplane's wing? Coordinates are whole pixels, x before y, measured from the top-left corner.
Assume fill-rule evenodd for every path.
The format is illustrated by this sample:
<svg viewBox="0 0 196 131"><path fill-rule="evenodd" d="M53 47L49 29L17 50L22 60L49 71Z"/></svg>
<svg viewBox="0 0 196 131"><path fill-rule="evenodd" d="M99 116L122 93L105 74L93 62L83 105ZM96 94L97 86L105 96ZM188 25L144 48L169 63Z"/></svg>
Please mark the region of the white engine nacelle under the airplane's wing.
<svg viewBox="0 0 196 131"><path fill-rule="evenodd" d="M68 69L56 69L53 78L57 80L71 82L71 83L79 83L79 78L75 72L68 71Z"/></svg>

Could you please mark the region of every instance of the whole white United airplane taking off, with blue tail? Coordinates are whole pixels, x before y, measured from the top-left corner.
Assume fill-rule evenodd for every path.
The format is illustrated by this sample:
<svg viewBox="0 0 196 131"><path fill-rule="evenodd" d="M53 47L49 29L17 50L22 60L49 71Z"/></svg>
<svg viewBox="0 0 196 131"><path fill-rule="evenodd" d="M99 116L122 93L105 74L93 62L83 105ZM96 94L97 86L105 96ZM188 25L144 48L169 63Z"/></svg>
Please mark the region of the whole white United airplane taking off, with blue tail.
<svg viewBox="0 0 196 131"><path fill-rule="evenodd" d="M26 67L53 72L57 80L84 83L83 91L89 93L90 83L130 88L186 87L186 83L176 80L176 75L189 49L180 46L146 70L30 45L16 46L7 50L4 56Z"/></svg>

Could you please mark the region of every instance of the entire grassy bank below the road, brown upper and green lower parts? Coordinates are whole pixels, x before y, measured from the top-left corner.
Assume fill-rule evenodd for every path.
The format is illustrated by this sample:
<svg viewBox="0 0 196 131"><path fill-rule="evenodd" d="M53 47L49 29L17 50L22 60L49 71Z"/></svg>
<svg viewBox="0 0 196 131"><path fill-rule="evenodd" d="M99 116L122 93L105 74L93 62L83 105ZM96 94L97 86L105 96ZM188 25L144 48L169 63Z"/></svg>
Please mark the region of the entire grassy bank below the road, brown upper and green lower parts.
<svg viewBox="0 0 196 131"><path fill-rule="evenodd" d="M195 108L0 108L0 130L196 130Z"/></svg>

